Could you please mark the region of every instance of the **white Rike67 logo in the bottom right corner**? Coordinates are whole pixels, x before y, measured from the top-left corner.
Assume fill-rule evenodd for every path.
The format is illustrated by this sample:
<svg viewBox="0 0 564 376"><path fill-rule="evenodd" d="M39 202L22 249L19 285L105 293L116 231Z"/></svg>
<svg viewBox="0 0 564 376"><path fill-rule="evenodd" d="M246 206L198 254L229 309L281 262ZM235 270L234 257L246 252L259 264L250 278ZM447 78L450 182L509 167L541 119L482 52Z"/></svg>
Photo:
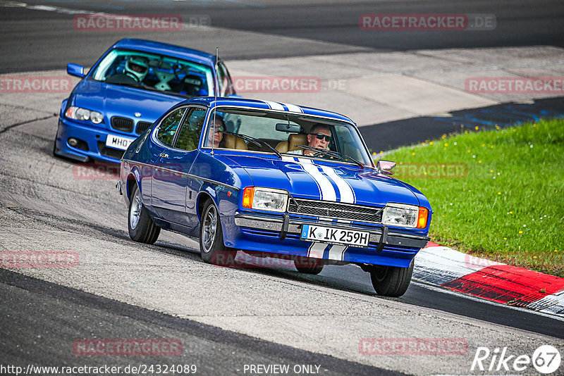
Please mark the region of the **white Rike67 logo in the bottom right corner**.
<svg viewBox="0 0 564 376"><path fill-rule="evenodd" d="M507 347L496 347L494 351L487 347L478 347L470 370L522 372L532 366L537 372L548 375L559 370L561 360L560 351L551 345L539 346L532 356L512 354ZM556 372L555 375L562 375L562 372Z"/></svg>

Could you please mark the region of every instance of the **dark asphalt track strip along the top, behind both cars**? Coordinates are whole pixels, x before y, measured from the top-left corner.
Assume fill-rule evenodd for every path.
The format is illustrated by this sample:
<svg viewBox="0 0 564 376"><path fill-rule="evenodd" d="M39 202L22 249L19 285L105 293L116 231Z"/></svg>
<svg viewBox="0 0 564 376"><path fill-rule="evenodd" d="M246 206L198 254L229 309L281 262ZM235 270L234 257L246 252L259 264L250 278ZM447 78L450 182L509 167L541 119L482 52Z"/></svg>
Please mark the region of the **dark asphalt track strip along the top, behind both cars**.
<svg viewBox="0 0 564 376"><path fill-rule="evenodd" d="M7 6L2 23L0 73L60 69L67 63L90 65L116 40L144 37L190 45L210 53L219 46L226 59L254 59L358 51L477 48L492 46L564 46L564 3L548 1L21 1L29 5L113 14L173 14L183 20L204 15L222 30L178 32L99 32L73 28L73 15ZM16 2L17 3L17 2ZM2 5L2 4L0 4ZM364 13L487 14L496 18L489 31L366 31ZM263 36L263 37L260 37ZM300 39L296 41L295 39Z"/></svg>

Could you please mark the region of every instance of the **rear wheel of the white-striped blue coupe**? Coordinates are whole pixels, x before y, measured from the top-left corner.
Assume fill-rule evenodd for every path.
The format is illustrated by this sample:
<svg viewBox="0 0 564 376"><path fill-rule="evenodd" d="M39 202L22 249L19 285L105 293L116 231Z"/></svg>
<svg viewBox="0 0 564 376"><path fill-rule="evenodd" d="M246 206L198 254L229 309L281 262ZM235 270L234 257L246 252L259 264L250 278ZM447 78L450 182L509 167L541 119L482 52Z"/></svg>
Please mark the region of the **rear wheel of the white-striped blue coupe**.
<svg viewBox="0 0 564 376"><path fill-rule="evenodd" d="M143 205L137 184L129 200L128 228L129 237L133 241L147 244L157 242L161 232L161 227L154 224L149 211Z"/></svg>

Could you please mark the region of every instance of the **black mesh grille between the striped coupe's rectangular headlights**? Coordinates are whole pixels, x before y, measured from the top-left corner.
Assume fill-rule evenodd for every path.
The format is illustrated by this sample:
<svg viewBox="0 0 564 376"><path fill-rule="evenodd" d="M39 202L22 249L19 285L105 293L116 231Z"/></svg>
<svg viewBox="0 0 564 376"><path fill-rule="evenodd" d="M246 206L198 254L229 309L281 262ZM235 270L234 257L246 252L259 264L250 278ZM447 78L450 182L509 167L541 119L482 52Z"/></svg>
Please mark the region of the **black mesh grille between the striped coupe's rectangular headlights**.
<svg viewBox="0 0 564 376"><path fill-rule="evenodd" d="M328 201L290 199L288 213L357 222L381 223L382 221L381 208Z"/></svg>

